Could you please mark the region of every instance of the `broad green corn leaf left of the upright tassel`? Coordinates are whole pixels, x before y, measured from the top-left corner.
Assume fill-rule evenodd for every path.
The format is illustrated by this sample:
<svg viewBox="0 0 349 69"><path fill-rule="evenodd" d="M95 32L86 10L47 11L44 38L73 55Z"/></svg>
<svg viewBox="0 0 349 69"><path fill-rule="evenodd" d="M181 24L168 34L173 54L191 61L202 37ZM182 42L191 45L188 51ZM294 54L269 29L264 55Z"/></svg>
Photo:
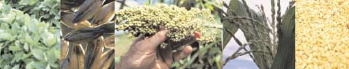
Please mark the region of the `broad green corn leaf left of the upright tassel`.
<svg viewBox="0 0 349 69"><path fill-rule="evenodd" d="M274 57L269 37L269 32L272 32L272 30L267 27L267 19L265 14L263 14L264 12L258 14L255 10L250 9L245 1L239 0L231 0L227 12L228 17L224 18L226 22L223 23L225 29L223 30L223 37L225 37L223 38L223 44L227 44L234 37L232 35L235 34L237 29L242 30L246 41L251 43L248 44L251 50L264 50L267 52L267 54L251 52L253 61L259 68L269 69ZM228 30L231 30L231 33ZM234 38L236 39L236 37Z"/></svg>

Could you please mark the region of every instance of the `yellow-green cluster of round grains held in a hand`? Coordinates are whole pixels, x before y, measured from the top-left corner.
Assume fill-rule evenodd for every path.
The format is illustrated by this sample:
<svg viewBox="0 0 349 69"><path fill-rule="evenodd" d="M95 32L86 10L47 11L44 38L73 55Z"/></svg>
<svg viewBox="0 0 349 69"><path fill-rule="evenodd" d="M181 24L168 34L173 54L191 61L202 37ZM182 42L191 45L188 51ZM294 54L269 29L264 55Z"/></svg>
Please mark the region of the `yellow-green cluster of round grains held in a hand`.
<svg viewBox="0 0 349 69"><path fill-rule="evenodd" d="M168 30L168 38L171 42L177 42L190 37L195 37L194 33L200 33L199 41L214 41L214 32L206 25L213 23L214 18L210 10L198 8L179 8L177 6L167 6L157 4L156 6L138 6L126 8L117 12L117 30L127 30L135 37L139 34L146 36L158 32L164 27Z"/></svg>

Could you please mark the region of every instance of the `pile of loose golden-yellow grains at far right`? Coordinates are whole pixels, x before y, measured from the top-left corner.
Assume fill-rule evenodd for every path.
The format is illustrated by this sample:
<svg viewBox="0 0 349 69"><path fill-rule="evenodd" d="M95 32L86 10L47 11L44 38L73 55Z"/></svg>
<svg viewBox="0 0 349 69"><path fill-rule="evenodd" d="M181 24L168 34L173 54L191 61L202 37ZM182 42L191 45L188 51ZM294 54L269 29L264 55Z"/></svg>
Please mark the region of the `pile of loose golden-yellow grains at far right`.
<svg viewBox="0 0 349 69"><path fill-rule="evenodd" d="M296 68L349 68L348 0L296 0Z"/></svg>

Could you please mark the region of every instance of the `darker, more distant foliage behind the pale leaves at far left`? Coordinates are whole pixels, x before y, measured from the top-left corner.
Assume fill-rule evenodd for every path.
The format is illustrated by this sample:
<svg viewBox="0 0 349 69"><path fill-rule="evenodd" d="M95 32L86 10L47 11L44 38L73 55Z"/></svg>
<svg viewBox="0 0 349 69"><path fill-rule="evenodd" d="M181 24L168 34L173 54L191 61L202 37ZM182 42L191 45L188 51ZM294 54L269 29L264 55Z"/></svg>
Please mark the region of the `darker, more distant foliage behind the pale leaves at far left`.
<svg viewBox="0 0 349 69"><path fill-rule="evenodd" d="M6 0L12 8L22 10L31 17L59 26L61 0Z"/></svg>

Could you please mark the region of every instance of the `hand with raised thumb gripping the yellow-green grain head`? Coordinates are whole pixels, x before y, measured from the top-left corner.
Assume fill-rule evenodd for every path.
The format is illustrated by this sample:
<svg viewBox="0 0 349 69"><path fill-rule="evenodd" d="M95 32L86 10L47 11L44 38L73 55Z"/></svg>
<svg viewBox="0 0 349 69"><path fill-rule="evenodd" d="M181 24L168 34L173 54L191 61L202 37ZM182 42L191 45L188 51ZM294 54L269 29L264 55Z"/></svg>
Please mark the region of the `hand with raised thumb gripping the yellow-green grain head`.
<svg viewBox="0 0 349 69"><path fill-rule="evenodd" d="M171 47L158 49L158 45L167 39L167 33L168 30L160 30L152 37L138 37L116 69L169 69L173 61L191 55L191 46L184 46L177 52L172 52Z"/></svg>

